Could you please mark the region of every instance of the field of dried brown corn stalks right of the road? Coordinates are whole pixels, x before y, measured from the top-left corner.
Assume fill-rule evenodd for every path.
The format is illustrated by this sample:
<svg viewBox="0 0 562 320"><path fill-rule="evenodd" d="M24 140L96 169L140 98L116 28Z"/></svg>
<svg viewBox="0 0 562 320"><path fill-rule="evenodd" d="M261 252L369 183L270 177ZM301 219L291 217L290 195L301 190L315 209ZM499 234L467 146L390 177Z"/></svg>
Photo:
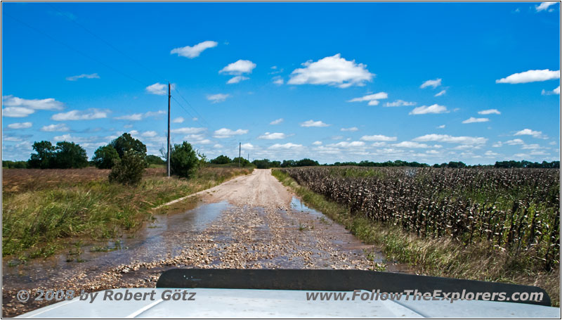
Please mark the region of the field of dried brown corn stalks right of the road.
<svg viewBox="0 0 562 320"><path fill-rule="evenodd" d="M421 238L528 252L560 262L559 169L304 167L282 169L352 213Z"/></svg>

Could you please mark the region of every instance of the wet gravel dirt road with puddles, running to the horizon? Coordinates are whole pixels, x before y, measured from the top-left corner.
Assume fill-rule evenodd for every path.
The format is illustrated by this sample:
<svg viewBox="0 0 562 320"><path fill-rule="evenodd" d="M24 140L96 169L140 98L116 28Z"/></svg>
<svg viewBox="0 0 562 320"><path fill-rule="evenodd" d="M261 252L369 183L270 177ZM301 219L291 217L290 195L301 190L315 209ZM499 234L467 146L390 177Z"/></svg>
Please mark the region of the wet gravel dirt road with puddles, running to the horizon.
<svg viewBox="0 0 562 320"><path fill-rule="evenodd" d="M308 209L269 169L255 169L196 193L183 212L157 215L122 250L31 262L2 274L2 313L14 316L50 302L18 302L18 290L153 287L166 269L381 269L383 256L343 226ZM87 251L87 250L86 250ZM389 271L396 271L391 269ZM10 270L11 269L11 270Z"/></svg>

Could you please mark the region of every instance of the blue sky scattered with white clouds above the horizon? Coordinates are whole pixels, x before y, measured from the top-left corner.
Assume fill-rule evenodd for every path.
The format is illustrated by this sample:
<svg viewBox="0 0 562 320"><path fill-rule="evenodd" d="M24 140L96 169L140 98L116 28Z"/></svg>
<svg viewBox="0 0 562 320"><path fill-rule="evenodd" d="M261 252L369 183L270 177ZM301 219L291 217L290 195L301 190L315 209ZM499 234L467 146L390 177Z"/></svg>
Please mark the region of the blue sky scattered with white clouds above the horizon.
<svg viewBox="0 0 562 320"><path fill-rule="evenodd" d="M559 160L558 3L2 4L2 159ZM277 120L277 121L276 121Z"/></svg>

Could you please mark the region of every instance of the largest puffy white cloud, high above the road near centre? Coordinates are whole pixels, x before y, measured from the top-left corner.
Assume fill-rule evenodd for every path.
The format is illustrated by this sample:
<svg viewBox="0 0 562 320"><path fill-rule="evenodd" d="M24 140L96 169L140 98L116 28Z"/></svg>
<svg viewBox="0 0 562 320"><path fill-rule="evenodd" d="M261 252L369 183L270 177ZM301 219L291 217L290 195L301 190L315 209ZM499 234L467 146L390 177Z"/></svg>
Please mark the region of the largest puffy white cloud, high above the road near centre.
<svg viewBox="0 0 562 320"><path fill-rule="evenodd" d="M341 58L340 53L315 62L308 60L302 65L304 68L295 69L291 73L287 84L327 84L347 88L353 85L363 86L374 77L367 70L367 65Z"/></svg>

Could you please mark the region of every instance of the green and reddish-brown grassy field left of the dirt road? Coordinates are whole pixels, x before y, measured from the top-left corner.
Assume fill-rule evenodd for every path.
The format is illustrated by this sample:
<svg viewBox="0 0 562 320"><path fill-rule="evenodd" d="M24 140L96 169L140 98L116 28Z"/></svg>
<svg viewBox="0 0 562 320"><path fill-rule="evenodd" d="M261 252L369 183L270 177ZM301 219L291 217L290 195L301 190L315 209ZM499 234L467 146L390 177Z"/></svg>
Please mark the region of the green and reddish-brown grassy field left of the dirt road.
<svg viewBox="0 0 562 320"><path fill-rule="evenodd" d="M251 169L202 167L192 179L147 169L136 187L110 184L110 170L3 169L2 255L18 260L48 257L70 248L70 239L98 241L133 233L152 208L221 184Z"/></svg>

